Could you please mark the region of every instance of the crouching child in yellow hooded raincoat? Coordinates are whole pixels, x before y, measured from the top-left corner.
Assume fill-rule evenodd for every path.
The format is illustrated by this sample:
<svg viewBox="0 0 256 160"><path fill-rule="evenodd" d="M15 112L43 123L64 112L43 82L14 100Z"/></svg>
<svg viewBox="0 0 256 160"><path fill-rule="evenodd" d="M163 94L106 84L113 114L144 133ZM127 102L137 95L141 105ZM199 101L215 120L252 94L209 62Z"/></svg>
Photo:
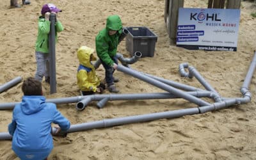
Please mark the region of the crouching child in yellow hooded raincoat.
<svg viewBox="0 0 256 160"><path fill-rule="evenodd" d="M105 85L100 83L100 79L91 63L91 61L96 60L93 52L94 49L86 46L82 46L77 50L77 58L80 63L76 76L77 85L83 95L90 95L96 92L102 93L105 89Z"/></svg>

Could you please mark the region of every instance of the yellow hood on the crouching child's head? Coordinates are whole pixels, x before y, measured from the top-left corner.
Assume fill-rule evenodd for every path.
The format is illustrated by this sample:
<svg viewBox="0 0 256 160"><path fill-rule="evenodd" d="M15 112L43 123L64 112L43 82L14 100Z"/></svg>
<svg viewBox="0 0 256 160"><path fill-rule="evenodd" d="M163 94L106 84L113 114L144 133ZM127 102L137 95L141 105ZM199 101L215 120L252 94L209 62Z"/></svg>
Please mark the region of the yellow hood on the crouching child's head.
<svg viewBox="0 0 256 160"><path fill-rule="evenodd" d="M82 46L77 50L77 58L79 63L84 67L93 68L93 65L90 63L90 56L92 55L92 61L97 60L95 56L93 56L94 49Z"/></svg>

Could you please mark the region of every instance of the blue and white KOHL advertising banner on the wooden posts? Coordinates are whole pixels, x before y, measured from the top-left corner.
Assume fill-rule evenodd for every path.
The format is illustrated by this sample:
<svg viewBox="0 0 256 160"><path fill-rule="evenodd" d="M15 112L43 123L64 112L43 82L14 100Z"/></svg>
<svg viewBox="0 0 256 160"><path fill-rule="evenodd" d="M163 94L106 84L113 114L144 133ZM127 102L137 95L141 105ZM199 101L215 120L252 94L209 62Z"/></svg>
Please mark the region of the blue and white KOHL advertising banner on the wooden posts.
<svg viewBox="0 0 256 160"><path fill-rule="evenodd" d="M237 51L240 10L179 8L177 46Z"/></svg>

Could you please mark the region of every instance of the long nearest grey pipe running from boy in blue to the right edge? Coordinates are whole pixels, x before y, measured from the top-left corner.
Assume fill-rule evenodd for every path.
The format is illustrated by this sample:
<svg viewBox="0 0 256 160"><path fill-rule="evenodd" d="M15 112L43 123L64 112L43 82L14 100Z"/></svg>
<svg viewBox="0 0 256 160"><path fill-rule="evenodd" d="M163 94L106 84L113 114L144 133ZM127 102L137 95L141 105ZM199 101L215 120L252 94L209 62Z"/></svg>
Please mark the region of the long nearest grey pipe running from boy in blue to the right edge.
<svg viewBox="0 0 256 160"><path fill-rule="evenodd" d="M253 61L254 61L254 58L253 58ZM252 70L255 70L255 65L251 65L251 66L253 67L249 68L248 73L253 73ZM246 82L251 81L251 79L252 79L252 76L246 76L244 81ZM246 102L246 100L247 102L250 102L250 94L248 93L249 92L246 92L246 94L244 95L244 98L243 98L244 102ZM178 109L174 111L166 111L161 113L150 113L146 115L126 116L122 118L111 118L107 120L100 120L100 121L88 122L84 124L71 125L70 129L68 129L67 132L86 131L88 129L112 127L115 125L124 125L124 124L136 123L136 122L147 122L151 120L158 120L161 118L177 118L184 115L193 115L198 113L205 113L207 111L214 111L216 109L227 108L228 106L232 106L234 104L237 104L237 99L227 99L222 102L216 102L209 106L199 106L198 108ZM8 132L0 133L0 140L11 140L11 139L12 139L12 136Z"/></svg>

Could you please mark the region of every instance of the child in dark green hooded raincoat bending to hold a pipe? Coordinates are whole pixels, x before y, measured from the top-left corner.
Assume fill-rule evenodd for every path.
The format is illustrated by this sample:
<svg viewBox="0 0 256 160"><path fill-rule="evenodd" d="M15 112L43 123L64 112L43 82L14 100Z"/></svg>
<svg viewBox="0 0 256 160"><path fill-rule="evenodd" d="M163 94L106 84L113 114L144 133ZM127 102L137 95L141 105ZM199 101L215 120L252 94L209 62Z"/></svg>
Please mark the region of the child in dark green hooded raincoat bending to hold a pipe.
<svg viewBox="0 0 256 160"><path fill-rule="evenodd" d="M116 51L118 39L122 34L122 21L118 15L110 15L106 22L106 28L102 29L96 36L96 51L103 67L105 68L105 78L108 84L109 92L117 93L114 82L118 79L113 77L113 73L117 68L118 60Z"/></svg>

